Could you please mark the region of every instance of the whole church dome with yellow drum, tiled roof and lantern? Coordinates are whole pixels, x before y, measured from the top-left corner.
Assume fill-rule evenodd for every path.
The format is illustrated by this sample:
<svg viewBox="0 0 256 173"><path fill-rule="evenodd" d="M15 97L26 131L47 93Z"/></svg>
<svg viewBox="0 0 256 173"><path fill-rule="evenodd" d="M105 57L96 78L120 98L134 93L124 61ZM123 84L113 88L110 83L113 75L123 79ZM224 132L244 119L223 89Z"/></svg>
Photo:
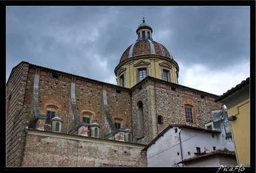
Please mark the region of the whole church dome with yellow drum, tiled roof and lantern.
<svg viewBox="0 0 256 173"><path fill-rule="evenodd" d="M117 85L132 88L146 76L178 84L178 63L165 46L153 41L152 33L143 17L136 30L136 42L124 50L114 69Z"/></svg>

